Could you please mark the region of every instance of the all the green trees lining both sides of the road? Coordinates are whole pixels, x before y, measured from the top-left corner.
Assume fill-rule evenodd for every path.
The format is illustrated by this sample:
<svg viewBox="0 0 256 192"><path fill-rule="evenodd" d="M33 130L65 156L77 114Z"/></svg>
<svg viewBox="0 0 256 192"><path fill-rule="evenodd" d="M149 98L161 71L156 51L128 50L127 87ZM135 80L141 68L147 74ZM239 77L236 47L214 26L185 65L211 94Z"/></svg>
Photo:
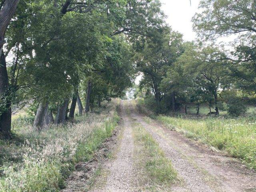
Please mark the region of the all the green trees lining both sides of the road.
<svg viewBox="0 0 256 192"><path fill-rule="evenodd" d="M124 96L139 73L136 94L157 112L182 106L186 112L195 104L199 113L205 103L214 114L224 104L230 114L245 112L241 95L254 98L256 88L255 2L201 0L193 42L166 24L161 6L159 0L2 0L2 137L12 137L15 104L33 102L40 131L72 120L76 104L82 115ZM232 50L215 43L221 36L235 36Z"/></svg>

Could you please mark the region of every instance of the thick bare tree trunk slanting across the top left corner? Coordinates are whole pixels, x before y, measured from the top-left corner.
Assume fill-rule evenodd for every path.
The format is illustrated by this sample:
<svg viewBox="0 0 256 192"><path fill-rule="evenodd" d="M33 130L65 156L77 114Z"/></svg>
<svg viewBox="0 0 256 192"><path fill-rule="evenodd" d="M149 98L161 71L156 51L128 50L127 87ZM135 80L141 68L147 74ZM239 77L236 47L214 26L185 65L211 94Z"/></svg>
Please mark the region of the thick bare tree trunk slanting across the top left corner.
<svg viewBox="0 0 256 192"><path fill-rule="evenodd" d="M6 29L14 15L18 2L19 0L6 0L0 10L0 55L2 55L2 48L5 43L4 35Z"/></svg>

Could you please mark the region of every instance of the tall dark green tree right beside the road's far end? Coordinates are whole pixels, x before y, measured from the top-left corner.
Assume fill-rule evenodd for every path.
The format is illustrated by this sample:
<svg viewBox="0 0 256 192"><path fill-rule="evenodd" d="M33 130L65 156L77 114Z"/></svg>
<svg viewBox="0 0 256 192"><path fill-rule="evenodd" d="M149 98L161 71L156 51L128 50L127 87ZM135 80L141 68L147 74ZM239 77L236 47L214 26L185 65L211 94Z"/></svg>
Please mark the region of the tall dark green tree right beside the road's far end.
<svg viewBox="0 0 256 192"><path fill-rule="evenodd" d="M164 95L160 88L161 81L168 68L182 54L181 44L182 35L172 32L166 26L156 31L153 37L142 39L142 44L137 45L137 68L143 73L141 86L150 87L158 103Z"/></svg>

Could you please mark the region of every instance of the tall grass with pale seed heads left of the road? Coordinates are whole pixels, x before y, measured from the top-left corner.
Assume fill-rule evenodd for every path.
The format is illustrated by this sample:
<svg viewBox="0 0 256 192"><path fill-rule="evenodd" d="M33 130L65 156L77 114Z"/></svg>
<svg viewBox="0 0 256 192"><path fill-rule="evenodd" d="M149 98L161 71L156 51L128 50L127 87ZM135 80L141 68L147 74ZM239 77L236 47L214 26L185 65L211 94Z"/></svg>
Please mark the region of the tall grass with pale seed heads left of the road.
<svg viewBox="0 0 256 192"><path fill-rule="evenodd" d="M0 141L1 192L57 192L74 164L87 161L112 134L118 122L115 106L80 117L76 124L52 125L38 133L18 128L13 141Z"/></svg>

